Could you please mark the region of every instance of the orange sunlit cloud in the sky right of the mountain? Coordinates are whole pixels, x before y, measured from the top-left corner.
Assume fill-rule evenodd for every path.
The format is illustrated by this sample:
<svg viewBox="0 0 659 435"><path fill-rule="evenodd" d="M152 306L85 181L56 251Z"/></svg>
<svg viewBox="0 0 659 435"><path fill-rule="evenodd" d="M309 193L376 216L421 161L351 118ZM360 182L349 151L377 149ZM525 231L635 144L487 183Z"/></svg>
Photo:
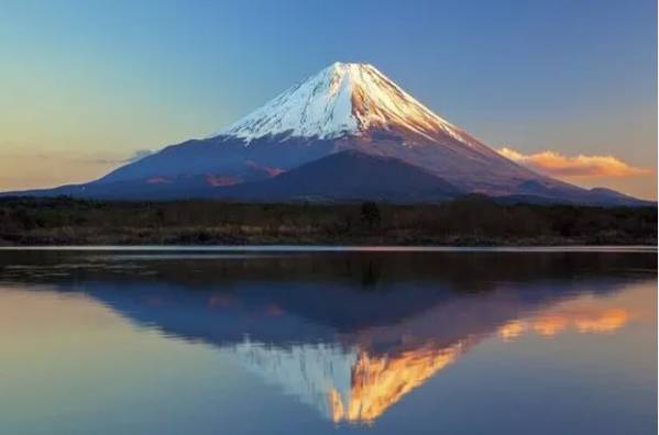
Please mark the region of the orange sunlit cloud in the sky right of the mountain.
<svg viewBox="0 0 659 435"><path fill-rule="evenodd" d="M521 154L507 147L498 149L498 153L520 165L556 177L634 177L651 174L649 169L630 166L614 156L565 156L552 150Z"/></svg>

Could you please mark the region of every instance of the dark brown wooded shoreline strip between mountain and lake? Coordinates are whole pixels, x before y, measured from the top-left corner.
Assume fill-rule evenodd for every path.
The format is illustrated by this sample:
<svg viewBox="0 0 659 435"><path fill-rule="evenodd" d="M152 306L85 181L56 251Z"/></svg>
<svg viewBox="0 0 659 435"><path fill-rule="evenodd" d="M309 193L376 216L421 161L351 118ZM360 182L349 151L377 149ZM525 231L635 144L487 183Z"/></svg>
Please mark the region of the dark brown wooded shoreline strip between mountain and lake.
<svg viewBox="0 0 659 435"><path fill-rule="evenodd" d="M0 200L0 246L657 246L657 208Z"/></svg>

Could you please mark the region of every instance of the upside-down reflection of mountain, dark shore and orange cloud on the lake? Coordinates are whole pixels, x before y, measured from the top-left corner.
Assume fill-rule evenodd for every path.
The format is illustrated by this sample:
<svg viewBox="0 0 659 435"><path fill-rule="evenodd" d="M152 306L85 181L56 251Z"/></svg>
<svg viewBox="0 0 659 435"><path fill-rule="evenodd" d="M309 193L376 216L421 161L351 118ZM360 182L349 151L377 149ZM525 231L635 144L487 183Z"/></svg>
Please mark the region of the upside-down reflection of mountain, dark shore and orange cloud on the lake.
<svg viewBox="0 0 659 435"><path fill-rule="evenodd" d="M0 267L3 282L84 292L211 344L328 420L372 423L484 338L611 333L647 315L616 293L655 279L656 255L2 253Z"/></svg>

